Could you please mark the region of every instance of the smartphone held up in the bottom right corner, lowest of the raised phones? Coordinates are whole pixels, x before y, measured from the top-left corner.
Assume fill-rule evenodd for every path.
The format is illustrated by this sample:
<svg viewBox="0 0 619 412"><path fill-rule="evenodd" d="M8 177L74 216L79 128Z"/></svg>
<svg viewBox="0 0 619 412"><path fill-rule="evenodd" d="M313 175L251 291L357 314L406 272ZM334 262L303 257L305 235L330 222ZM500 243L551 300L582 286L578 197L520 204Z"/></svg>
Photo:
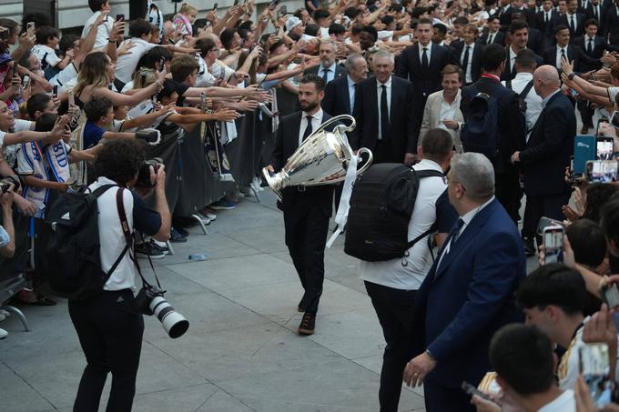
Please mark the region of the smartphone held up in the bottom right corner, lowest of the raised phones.
<svg viewBox="0 0 619 412"><path fill-rule="evenodd" d="M610 376L608 345L585 344L578 348L580 373L589 387L596 408L611 403L613 379Z"/></svg>

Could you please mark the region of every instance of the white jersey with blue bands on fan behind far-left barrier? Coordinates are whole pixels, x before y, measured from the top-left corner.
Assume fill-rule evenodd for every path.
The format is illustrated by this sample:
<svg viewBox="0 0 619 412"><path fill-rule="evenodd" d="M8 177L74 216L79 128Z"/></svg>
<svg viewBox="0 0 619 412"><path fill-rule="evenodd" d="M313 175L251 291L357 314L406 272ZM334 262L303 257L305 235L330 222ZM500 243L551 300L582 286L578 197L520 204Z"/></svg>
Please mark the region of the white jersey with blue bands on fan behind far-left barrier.
<svg viewBox="0 0 619 412"><path fill-rule="evenodd" d="M43 149L40 142L23 143L21 150L25 162L32 168L32 176L48 182L67 182L70 179L69 156L63 140ZM22 196L35 204L37 209L35 217L43 217L43 210L49 200L49 191L50 189L46 187L24 186Z"/></svg>

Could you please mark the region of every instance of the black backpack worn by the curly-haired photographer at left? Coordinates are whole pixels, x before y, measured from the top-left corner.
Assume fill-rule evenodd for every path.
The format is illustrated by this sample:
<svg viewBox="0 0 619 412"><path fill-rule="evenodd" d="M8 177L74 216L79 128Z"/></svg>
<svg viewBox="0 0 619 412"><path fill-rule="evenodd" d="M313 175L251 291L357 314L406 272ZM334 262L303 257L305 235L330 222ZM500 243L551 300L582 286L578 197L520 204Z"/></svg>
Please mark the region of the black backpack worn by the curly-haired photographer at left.
<svg viewBox="0 0 619 412"><path fill-rule="evenodd" d="M101 269L96 199L115 186L100 186L92 193L61 194L47 211L46 224L52 227L52 231L46 245L44 271L56 295L75 300L98 295L127 253L128 244L109 272ZM124 216L122 196L123 189L120 188L117 208L122 207L121 216ZM122 224L127 225L127 220Z"/></svg>

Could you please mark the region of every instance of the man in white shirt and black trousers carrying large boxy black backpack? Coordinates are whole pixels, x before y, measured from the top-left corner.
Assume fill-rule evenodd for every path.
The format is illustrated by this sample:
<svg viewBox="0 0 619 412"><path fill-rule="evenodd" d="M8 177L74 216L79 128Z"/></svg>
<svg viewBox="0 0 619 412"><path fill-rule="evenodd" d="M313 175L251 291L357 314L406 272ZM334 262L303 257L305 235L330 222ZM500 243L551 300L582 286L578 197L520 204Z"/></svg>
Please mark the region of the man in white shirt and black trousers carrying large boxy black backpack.
<svg viewBox="0 0 619 412"><path fill-rule="evenodd" d="M401 377L409 360L412 317L417 289L432 264L428 234L435 227L439 246L457 219L449 204L441 174L450 166L453 138L445 130L428 131L421 143L421 161L412 166L416 173L438 172L420 178L419 190L408 226L408 240L416 239L406 256L380 262L360 261L359 276L381 322L387 346L382 357L381 412L397 412ZM421 175L420 175L421 176ZM433 231L433 230L432 230Z"/></svg>

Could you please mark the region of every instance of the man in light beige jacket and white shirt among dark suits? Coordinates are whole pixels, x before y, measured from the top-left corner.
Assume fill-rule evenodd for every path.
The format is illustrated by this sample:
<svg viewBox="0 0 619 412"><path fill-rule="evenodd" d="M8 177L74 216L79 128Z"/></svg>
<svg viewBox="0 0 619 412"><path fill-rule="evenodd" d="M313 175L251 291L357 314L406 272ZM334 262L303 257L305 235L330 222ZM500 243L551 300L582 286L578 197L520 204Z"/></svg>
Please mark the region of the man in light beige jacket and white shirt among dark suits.
<svg viewBox="0 0 619 412"><path fill-rule="evenodd" d="M457 65L446 65L442 69L442 90L429 95L423 109L418 147L421 146L423 136L429 130L438 127L447 130L452 135L456 152L462 153L462 142L460 141L460 129L464 123L464 116L462 116L460 109L462 77L462 69Z"/></svg>

